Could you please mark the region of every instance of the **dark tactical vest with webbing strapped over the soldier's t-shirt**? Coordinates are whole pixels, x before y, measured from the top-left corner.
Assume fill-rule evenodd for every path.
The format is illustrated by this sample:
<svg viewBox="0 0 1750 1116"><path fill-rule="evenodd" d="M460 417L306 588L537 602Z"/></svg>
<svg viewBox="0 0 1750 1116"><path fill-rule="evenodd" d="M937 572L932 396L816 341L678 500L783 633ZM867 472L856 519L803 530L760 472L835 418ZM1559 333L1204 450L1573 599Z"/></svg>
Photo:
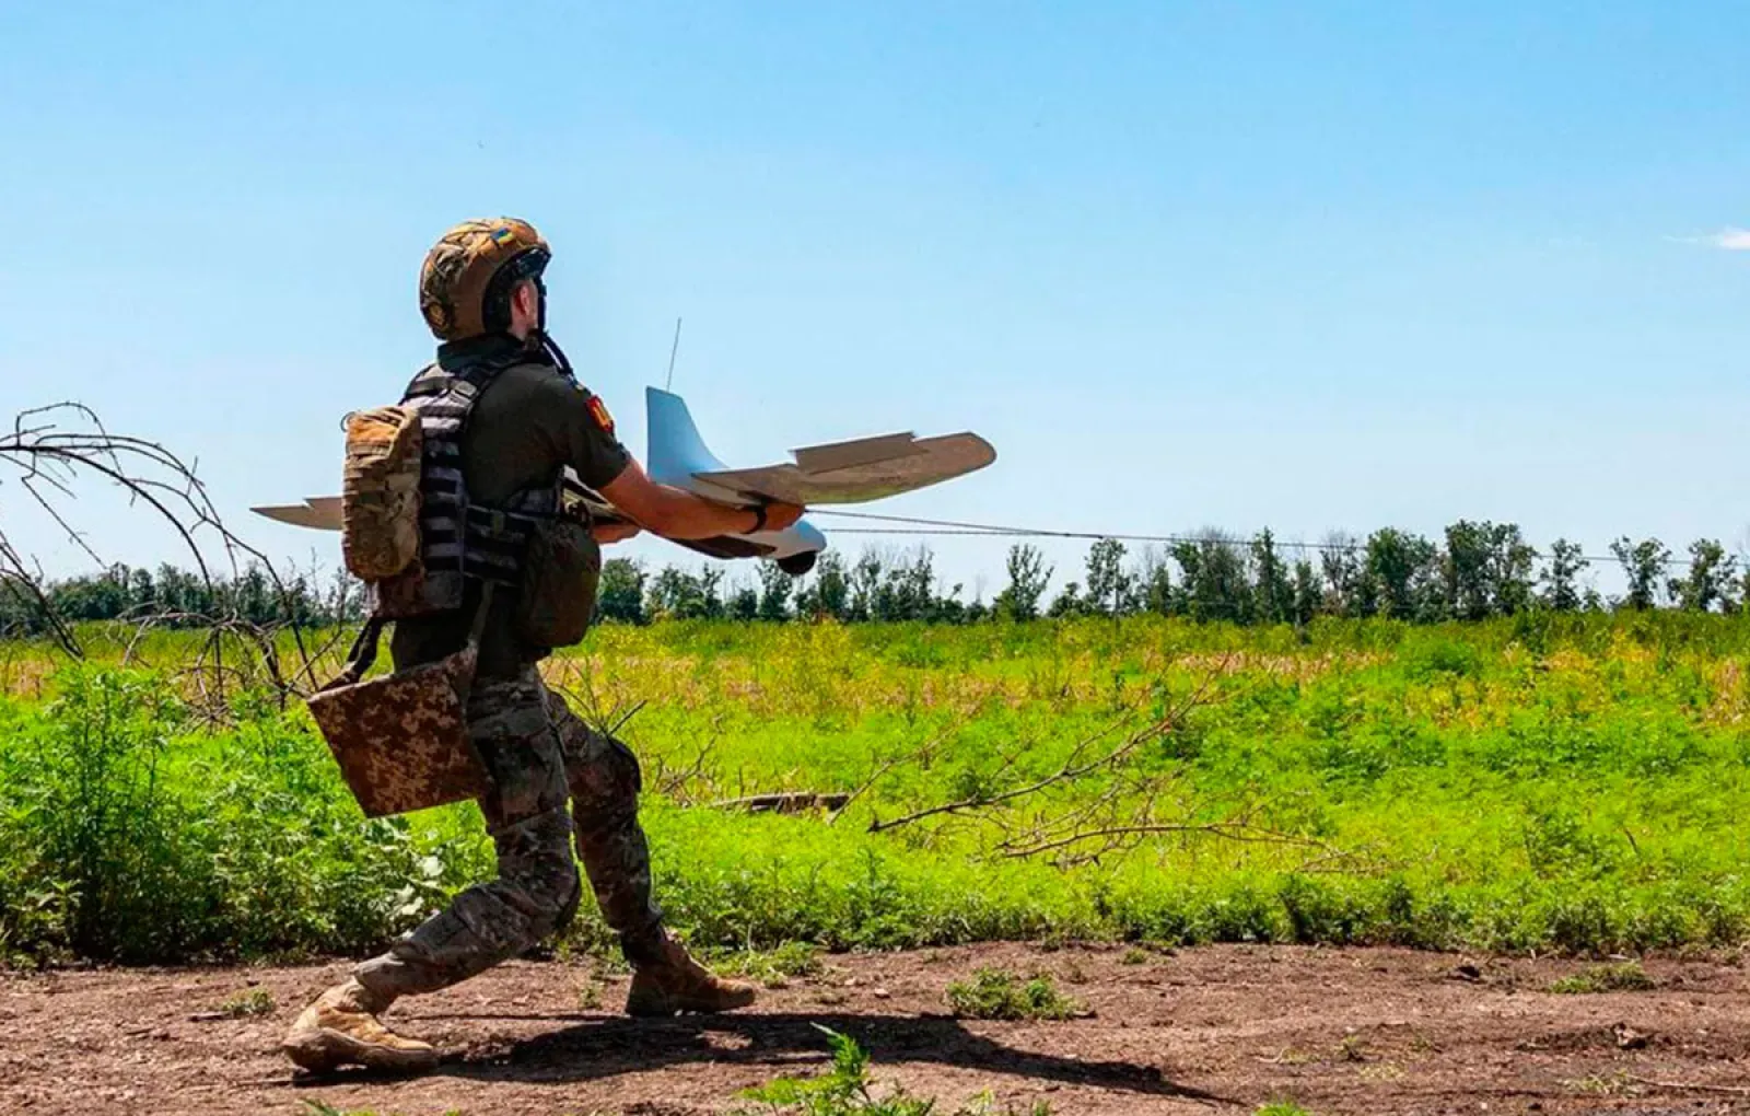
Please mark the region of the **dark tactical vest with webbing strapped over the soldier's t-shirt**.
<svg viewBox="0 0 1750 1116"><path fill-rule="evenodd" d="M373 586L376 612L399 619L462 607L469 579L516 586L528 539L560 509L560 476L516 492L504 504L469 499L462 437L481 394L508 367L525 362L476 360L455 369L429 366L408 385L401 406L420 422L420 560Z"/></svg>

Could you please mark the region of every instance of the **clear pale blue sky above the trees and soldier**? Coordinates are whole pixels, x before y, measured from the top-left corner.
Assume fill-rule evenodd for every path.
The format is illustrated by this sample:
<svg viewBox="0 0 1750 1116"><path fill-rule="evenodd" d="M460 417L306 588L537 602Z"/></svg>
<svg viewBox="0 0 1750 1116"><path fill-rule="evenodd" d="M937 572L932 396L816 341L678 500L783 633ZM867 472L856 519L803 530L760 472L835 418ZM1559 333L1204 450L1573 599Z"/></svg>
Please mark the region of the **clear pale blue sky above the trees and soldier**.
<svg viewBox="0 0 1750 1116"><path fill-rule="evenodd" d="M1736 546L1746 40L1701 0L4 3L0 415L88 402L332 561L242 509L338 486L340 415L429 355L425 248L506 212L635 451L684 315L726 460L996 443L878 511ZM936 553L999 588L1001 542Z"/></svg>

